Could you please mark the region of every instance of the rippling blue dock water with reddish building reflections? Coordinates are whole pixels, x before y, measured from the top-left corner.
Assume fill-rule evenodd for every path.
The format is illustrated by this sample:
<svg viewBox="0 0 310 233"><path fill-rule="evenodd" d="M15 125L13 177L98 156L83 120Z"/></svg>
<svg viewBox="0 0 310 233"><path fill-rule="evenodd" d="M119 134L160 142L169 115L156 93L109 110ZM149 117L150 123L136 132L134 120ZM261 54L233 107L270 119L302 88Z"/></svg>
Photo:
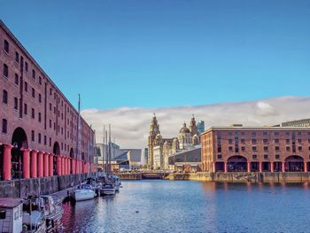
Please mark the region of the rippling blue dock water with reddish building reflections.
<svg viewBox="0 0 310 233"><path fill-rule="evenodd" d="M310 184L124 181L64 204L69 232L310 232Z"/></svg>

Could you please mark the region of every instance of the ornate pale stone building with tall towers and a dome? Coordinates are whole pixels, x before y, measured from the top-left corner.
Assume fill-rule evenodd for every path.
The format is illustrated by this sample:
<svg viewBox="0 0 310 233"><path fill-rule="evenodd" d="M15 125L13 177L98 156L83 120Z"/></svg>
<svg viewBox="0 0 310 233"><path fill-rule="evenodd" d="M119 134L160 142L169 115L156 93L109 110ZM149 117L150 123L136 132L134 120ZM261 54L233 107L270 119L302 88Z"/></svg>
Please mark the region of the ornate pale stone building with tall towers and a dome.
<svg viewBox="0 0 310 233"><path fill-rule="evenodd" d="M189 128L183 123L179 134L172 138L160 135L159 123L154 114L151 120L150 136L148 139L148 166L151 169L169 169L168 158L176 152L189 151L200 144L195 117L192 116Z"/></svg>

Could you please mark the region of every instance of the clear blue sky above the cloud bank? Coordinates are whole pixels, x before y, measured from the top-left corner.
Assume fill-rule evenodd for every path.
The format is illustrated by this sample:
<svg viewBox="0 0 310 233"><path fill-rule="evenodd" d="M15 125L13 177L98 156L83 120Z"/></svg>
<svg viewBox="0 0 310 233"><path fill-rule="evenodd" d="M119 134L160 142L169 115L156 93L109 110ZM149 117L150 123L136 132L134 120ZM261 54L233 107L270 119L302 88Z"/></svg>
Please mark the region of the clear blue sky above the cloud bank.
<svg viewBox="0 0 310 233"><path fill-rule="evenodd" d="M0 19L82 108L309 96L309 1L14 1Z"/></svg>

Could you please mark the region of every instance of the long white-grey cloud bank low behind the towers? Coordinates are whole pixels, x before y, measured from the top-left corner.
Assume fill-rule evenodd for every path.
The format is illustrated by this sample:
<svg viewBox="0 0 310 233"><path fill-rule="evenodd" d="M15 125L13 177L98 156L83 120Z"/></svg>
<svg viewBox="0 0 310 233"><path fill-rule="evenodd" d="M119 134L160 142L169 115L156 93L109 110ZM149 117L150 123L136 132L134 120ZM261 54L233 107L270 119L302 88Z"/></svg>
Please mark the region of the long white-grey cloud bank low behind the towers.
<svg viewBox="0 0 310 233"><path fill-rule="evenodd" d="M97 131L102 142L104 124L111 123L112 136L122 148L143 148L147 145L152 114L156 113L163 137L176 136L184 120L191 114L205 120L205 128L241 123L247 126L275 125L286 120L308 118L310 97L276 97L264 100L222 103L216 105L166 108L121 107L111 110L86 109L83 118Z"/></svg>

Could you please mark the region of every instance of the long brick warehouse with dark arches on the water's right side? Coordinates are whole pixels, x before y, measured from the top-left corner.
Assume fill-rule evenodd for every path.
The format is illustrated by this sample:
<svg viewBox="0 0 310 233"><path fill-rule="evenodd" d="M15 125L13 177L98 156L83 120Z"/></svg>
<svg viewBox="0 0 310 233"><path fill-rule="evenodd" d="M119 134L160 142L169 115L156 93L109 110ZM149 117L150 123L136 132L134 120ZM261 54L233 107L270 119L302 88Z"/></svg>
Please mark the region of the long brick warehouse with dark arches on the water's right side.
<svg viewBox="0 0 310 233"><path fill-rule="evenodd" d="M307 172L310 128L212 127L201 136L205 172Z"/></svg>

